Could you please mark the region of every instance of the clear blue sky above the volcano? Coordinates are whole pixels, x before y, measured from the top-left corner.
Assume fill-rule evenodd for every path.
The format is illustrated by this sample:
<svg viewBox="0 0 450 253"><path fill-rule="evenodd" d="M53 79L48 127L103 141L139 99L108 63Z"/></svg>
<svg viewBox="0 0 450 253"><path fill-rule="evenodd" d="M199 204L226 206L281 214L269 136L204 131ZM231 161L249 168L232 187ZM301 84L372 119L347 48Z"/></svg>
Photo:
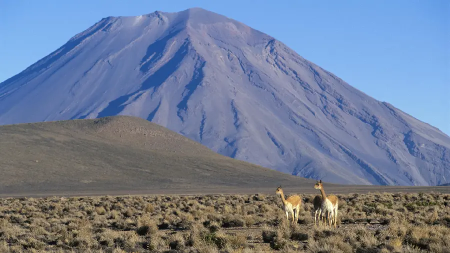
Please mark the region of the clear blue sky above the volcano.
<svg viewBox="0 0 450 253"><path fill-rule="evenodd" d="M202 7L450 135L450 0L0 0L0 81L106 16Z"/></svg>

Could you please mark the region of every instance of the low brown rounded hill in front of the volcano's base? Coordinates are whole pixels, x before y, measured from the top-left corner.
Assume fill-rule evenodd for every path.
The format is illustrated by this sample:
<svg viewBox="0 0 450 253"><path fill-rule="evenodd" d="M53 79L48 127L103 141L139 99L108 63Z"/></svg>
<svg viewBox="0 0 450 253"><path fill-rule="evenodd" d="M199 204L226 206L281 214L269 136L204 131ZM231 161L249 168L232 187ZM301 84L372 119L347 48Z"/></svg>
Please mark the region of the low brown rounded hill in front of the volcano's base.
<svg viewBox="0 0 450 253"><path fill-rule="evenodd" d="M315 180L211 151L145 119L110 116L0 126L0 196L316 193ZM327 184L331 192L450 187Z"/></svg>

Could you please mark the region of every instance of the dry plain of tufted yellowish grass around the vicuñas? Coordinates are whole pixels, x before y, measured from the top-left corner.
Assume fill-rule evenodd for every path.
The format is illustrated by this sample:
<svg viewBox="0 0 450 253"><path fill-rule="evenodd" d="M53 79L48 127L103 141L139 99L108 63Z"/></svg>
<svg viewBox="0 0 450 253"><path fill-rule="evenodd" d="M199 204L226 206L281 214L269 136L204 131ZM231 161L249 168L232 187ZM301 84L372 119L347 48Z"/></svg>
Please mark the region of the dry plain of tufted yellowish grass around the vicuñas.
<svg viewBox="0 0 450 253"><path fill-rule="evenodd" d="M0 252L450 251L450 194L337 194L336 229L314 195L296 224L274 193L2 198Z"/></svg>

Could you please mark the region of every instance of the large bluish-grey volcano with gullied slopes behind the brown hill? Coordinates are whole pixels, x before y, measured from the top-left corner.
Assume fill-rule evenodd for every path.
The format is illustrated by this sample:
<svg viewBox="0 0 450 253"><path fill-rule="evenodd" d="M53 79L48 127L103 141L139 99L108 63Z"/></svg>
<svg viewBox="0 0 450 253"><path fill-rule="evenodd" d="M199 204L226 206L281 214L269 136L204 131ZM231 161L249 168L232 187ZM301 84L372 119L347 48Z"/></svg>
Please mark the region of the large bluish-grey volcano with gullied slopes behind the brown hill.
<svg viewBox="0 0 450 253"><path fill-rule="evenodd" d="M450 180L450 137L201 8L106 17L0 83L0 124L132 115L336 183Z"/></svg>

